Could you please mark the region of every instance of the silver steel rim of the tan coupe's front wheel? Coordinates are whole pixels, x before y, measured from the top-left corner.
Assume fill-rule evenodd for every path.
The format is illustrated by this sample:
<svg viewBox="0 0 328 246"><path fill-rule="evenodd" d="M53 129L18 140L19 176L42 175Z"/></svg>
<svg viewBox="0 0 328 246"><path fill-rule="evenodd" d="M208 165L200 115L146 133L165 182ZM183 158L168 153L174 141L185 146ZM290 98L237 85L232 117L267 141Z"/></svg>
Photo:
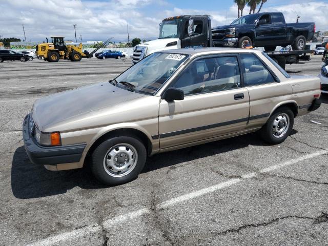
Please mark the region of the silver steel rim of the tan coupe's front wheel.
<svg viewBox="0 0 328 246"><path fill-rule="evenodd" d="M129 144L118 144L105 155L104 169L112 177L128 175L137 165L138 154Z"/></svg>

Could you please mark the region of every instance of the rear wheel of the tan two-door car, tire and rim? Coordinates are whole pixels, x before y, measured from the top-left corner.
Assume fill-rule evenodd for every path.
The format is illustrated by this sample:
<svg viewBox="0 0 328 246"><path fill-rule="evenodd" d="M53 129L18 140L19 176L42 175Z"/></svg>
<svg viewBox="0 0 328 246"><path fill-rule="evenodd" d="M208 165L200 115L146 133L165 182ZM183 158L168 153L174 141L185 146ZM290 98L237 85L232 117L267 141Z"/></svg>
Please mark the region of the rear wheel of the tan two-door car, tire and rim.
<svg viewBox="0 0 328 246"><path fill-rule="evenodd" d="M294 113L288 107L281 107L271 115L260 134L264 141L277 145L290 135L293 125Z"/></svg>

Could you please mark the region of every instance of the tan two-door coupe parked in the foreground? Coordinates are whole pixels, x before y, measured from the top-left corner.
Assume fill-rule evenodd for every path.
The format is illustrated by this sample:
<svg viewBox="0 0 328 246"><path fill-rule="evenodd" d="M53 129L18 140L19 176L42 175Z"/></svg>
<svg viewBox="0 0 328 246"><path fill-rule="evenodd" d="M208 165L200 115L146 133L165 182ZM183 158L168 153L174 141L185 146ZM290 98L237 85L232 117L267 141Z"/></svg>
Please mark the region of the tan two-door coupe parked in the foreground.
<svg viewBox="0 0 328 246"><path fill-rule="evenodd" d="M279 144L319 96L318 77L291 77L259 50L161 51L109 82L35 101L24 143L48 170L82 168L91 157L96 178L118 185L156 153L255 131Z"/></svg>

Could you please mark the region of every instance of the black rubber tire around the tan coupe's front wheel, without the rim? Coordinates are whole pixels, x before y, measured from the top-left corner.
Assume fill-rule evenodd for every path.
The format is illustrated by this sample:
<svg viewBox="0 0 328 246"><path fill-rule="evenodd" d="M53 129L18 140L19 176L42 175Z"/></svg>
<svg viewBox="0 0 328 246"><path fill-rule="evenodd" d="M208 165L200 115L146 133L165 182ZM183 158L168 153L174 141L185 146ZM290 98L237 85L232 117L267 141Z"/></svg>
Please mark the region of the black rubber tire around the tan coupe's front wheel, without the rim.
<svg viewBox="0 0 328 246"><path fill-rule="evenodd" d="M111 176L109 173L109 169L105 167L105 158L108 155L108 152L115 147L116 145L130 145L136 151L136 164L131 171L121 177ZM138 174L142 171L145 166L147 151L142 144L142 142L134 137L121 136L121 137L113 137L102 142L92 153L92 163L91 170L94 176L105 185L109 186L117 186L122 183L130 182L138 177ZM113 157L114 158L114 157ZM118 157L119 158L119 157ZM106 158L107 159L107 158ZM117 159L116 159L117 161Z"/></svg>

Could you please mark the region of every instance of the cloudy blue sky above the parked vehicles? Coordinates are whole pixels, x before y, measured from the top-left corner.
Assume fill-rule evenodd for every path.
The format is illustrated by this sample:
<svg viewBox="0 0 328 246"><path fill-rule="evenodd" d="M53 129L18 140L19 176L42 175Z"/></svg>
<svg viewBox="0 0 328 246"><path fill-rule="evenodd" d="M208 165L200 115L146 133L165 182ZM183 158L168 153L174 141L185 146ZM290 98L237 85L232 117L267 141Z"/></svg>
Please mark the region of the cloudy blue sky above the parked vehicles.
<svg viewBox="0 0 328 246"><path fill-rule="evenodd" d="M129 25L130 40L146 40L158 36L163 18L183 14L209 14L212 26L230 24L237 18L233 0L0 0L0 36L43 41L46 37L65 36L83 42L106 40L126 42ZM279 11L286 22L315 22L317 30L328 31L328 0L268 0L261 12ZM248 14L245 7L243 13Z"/></svg>

